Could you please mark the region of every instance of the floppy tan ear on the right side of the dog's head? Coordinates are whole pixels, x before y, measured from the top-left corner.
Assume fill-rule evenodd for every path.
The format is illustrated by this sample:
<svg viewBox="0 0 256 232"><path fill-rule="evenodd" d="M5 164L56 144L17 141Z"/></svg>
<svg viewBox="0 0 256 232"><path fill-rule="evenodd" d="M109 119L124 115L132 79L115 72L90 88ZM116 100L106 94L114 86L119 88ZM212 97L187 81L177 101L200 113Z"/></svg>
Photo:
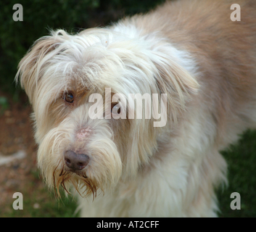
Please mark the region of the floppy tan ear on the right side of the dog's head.
<svg viewBox="0 0 256 232"><path fill-rule="evenodd" d="M157 88L160 94L167 94L168 112L176 121L178 112L185 109L186 101L197 94L199 83L194 76L197 73L196 66L193 66L193 61L189 56L179 57L177 62L176 57L170 55L171 51L170 54L167 52L168 49L156 52L152 56L152 62L157 70L155 73Z"/></svg>

